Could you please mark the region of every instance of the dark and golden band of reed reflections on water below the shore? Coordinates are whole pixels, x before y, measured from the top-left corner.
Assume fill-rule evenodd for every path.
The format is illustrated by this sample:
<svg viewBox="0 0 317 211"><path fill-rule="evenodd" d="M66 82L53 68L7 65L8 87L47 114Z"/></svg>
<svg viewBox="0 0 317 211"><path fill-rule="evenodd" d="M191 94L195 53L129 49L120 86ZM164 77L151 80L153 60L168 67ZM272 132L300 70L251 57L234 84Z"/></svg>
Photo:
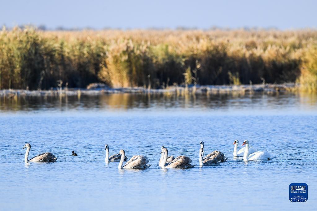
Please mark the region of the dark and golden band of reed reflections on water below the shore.
<svg viewBox="0 0 317 211"><path fill-rule="evenodd" d="M315 110L317 95L165 95L165 94L104 94L96 96L20 96L0 98L2 111L29 110L111 110L111 109L289 109Z"/></svg>

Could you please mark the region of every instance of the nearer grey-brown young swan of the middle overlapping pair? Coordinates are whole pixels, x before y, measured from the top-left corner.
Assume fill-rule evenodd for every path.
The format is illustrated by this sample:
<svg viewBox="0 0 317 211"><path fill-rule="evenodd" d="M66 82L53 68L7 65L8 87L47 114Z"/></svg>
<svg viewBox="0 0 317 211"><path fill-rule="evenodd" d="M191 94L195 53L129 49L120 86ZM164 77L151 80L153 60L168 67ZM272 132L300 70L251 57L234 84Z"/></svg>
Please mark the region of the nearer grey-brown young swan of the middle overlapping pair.
<svg viewBox="0 0 317 211"><path fill-rule="evenodd" d="M167 156L168 156L167 149L163 148L162 152L160 153L164 153L163 162L160 165L163 168L192 168L195 166L195 165L191 165L191 158L188 158L187 156L183 156L183 155L178 156L177 158L172 160L171 163L166 164Z"/></svg>

